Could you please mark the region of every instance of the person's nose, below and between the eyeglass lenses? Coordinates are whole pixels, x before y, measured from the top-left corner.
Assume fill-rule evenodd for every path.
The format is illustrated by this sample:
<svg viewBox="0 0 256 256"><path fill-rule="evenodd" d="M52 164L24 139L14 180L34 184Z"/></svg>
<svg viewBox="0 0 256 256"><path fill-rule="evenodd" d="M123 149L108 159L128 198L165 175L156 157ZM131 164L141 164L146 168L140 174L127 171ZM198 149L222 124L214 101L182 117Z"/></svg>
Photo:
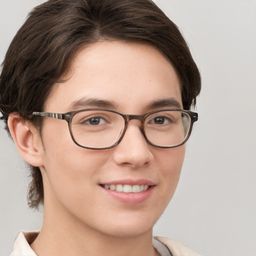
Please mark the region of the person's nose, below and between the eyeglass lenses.
<svg viewBox="0 0 256 256"><path fill-rule="evenodd" d="M118 165L125 164L138 168L153 159L153 154L149 150L150 145L136 123L140 124L138 120L129 121L122 140L114 147L113 157Z"/></svg>

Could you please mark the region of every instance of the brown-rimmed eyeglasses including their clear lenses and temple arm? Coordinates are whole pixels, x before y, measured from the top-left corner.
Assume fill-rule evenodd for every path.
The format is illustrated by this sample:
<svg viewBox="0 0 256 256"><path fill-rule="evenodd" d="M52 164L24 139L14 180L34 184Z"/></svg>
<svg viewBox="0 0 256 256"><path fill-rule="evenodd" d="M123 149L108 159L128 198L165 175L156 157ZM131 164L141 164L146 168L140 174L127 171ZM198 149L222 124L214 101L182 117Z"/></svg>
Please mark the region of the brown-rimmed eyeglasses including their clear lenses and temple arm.
<svg viewBox="0 0 256 256"><path fill-rule="evenodd" d="M33 116L66 120L72 140L78 146L107 149L124 136L129 120L141 121L146 141L156 147L170 148L184 144L198 114L183 109L160 109L146 114L121 114L104 108L86 108L66 113L33 112Z"/></svg>

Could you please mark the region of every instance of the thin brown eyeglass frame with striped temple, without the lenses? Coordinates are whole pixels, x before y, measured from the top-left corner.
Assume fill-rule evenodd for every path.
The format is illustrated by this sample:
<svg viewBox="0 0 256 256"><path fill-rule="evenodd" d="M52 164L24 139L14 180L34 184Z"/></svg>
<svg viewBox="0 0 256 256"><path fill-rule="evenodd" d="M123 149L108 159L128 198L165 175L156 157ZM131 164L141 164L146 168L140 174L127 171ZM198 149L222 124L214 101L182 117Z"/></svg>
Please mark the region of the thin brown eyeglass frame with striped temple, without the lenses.
<svg viewBox="0 0 256 256"><path fill-rule="evenodd" d="M79 144L74 136L73 136L73 133L72 133L72 129L71 129L71 122L72 122L72 118L73 116L76 114L76 113L79 113L79 112L82 112L82 111L89 111L89 110L104 110L104 111L109 111L109 112L113 112L113 113L116 113L116 114L119 114L122 116L122 118L124 119L124 127L123 127L123 130L122 130L122 134L120 135L120 137L118 138L118 140L111 146L106 146L106 147L90 147L90 146L84 146L82 144ZM154 143L152 143L145 135L145 130L144 130L144 121L145 119L147 118L148 115L151 115L151 114L154 114L154 113L157 113L157 112L162 112L162 111L179 111L179 112L183 112L183 113L186 113L187 115L189 115L190 117L190 122L189 122L189 129L188 129L188 132L187 132L187 135L186 137L184 138L184 140L179 143L179 144L176 144L176 145L171 145L171 146L160 146L160 145L156 145ZM68 129L69 129L69 133L71 135L71 138L73 140L73 142L80 146L80 147L83 147L83 148L88 148L88 149L95 149L95 150L101 150L101 149L108 149L108 148L112 148L114 146L116 146L118 143L120 143L120 141L122 140L124 134L125 134L125 131L127 129L127 125L128 125L128 122L130 120L139 120L141 121L141 126L139 127L141 133L143 134L145 140L152 146L155 146L155 147L159 147L159 148L173 148L173 147L177 147L177 146L180 146L182 144L184 144L190 134L191 134L191 131L192 131L192 127L193 127L193 123L195 121L198 120L198 113L197 112L193 112L191 110L185 110L185 109L181 109L181 108L164 108L164 109L158 109L158 110L154 110L154 111L151 111L151 112L148 112L148 113L145 113L145 114L122 114L122 113L119 113L115 110L112 110L112 109L107 109L107 108L98 108L98 107L92 107L92 108L82 108L82 109L77 109L77 110L72 110L72 111L68 111L66 113L54 113L54 112L32 112L32 116L33 117L50 117L50 118L55 118L55 119L60 119L60 120L66 120L67 123L68 123Z"/></svg>

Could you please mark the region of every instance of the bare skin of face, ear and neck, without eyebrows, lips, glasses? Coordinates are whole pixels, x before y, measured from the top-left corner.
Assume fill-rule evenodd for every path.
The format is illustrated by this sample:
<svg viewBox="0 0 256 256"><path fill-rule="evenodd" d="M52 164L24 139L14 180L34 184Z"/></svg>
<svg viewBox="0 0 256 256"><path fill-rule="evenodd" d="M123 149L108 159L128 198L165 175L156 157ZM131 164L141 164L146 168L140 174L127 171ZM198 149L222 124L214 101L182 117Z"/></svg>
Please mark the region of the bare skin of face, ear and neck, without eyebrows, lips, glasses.
<svg viewBox="0 0 256 256"><path fill-rule="evenodd" d="M53 87L44 111L95 107L72 104L83 97L111 101L111 109L128 114L167 108L147 106L166 98L174 98L182 107L174 68L148 45L94 43L77 52L65 78L66 82ZM30 244L35 253L157 255L152 227L174 193L185 147L153 147L139 126L138 120L131 120L117 146L92 150L72 141L64 120L44 117L40 137L32 124L15 113L10 115L9 127L20 153L40 167L43 177L44 219ZM152 181L154 187L146 200L136 204L116 200L99 185L141 178Z"/></svg>

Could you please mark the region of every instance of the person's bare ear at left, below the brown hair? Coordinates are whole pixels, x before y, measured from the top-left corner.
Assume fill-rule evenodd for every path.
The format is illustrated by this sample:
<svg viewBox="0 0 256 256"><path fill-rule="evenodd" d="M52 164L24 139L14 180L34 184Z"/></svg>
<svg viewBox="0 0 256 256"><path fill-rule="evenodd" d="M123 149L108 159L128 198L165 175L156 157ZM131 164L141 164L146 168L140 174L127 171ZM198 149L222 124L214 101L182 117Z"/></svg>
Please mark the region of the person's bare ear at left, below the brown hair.
<svg viewBox="0 0 256 256"><path fill-rule="evenodd" d="M8 117L8 127L14 143L25 161L33 166L42 166L43 146L36 127L15 112Z"/></svg>

